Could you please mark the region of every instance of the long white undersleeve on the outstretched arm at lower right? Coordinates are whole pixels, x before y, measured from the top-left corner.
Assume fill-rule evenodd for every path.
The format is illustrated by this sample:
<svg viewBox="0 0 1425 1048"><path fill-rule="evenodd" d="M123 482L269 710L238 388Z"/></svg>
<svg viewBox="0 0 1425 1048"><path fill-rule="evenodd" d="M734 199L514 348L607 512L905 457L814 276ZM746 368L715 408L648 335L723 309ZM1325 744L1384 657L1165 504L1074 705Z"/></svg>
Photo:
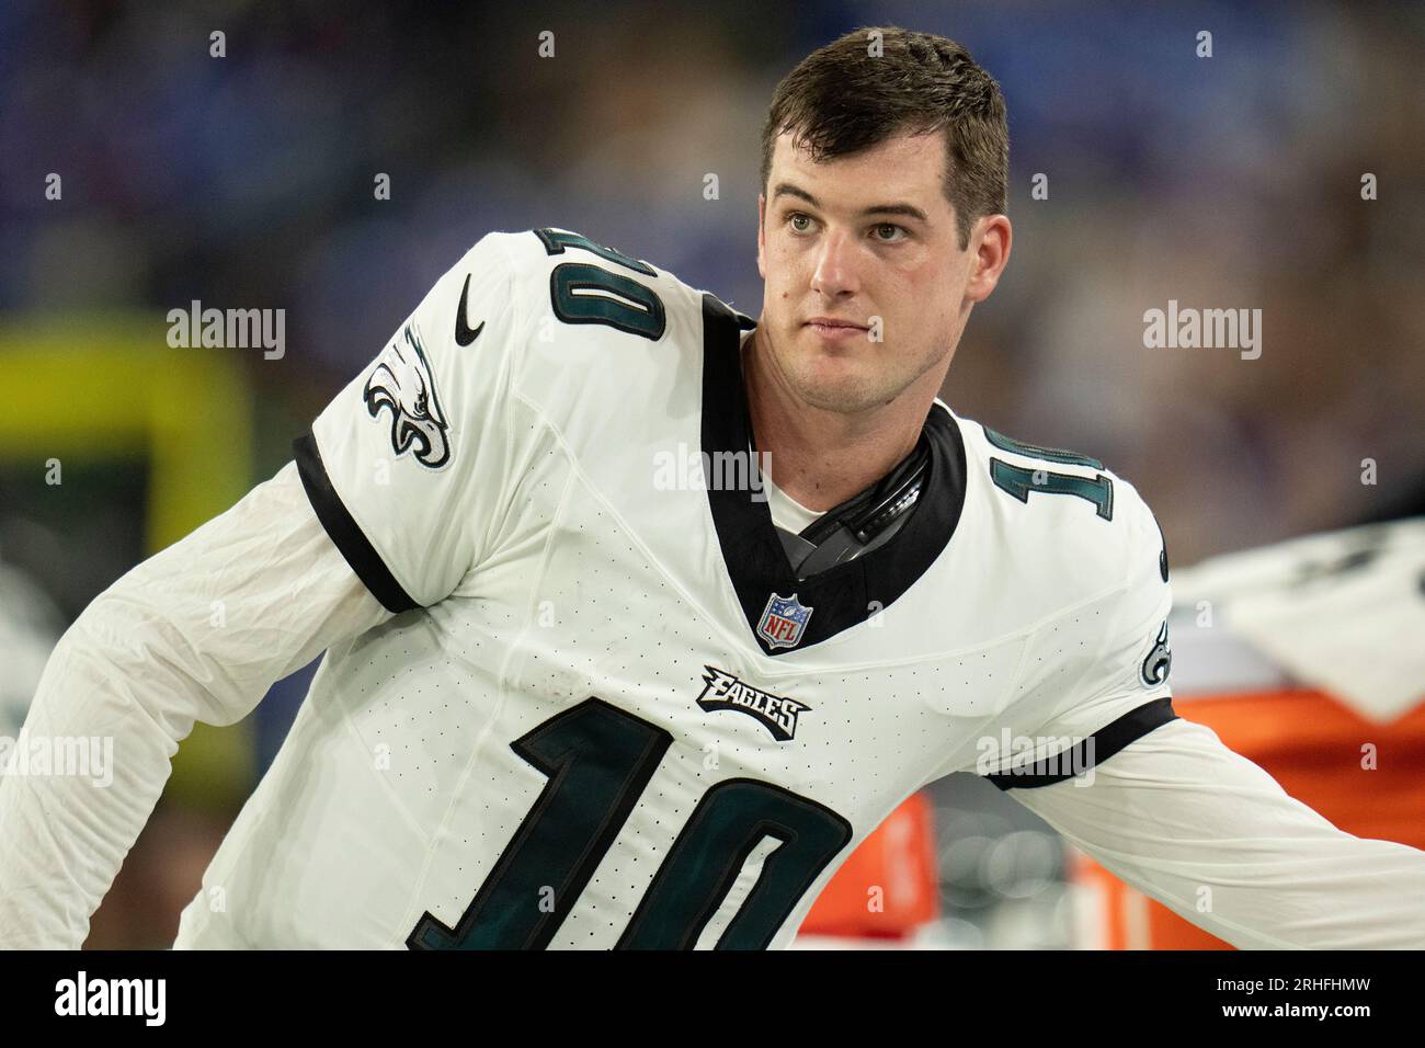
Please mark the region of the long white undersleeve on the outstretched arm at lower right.
<svg viewBox="0 0 1425 1048"><path fill-rule="evenodd" d="M1083 781L1009 794L1238 948L1425 947L1425 851L1338 830L1203 724L1161 724Z"/></svg>

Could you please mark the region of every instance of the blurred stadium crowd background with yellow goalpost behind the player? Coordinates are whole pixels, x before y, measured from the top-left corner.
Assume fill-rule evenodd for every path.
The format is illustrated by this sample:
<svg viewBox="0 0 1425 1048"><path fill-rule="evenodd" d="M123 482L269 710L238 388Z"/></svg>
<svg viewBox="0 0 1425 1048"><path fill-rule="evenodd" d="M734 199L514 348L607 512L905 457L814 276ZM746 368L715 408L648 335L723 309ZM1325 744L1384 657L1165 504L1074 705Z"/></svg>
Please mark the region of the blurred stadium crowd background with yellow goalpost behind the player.
<svg viewBox="0 0 1425 1048"><path fill-rule="evenodd" d="M84 606L276 472L484 232L579 230L755 315L771 90L866 24L963 41L1009 103L1015 250L950 368L962 415L1107 461L1174 569L1425 512L1425 7L11 0L4 733ZM168 348L192 299L285 309L285 355ZM1260 308L1261 358L1146 349L1168 299ZM90 947L171 942L312 669L194 733ZM968 776L926 801L939 915L918 942L1083 942L1056 834Z"/></svg>

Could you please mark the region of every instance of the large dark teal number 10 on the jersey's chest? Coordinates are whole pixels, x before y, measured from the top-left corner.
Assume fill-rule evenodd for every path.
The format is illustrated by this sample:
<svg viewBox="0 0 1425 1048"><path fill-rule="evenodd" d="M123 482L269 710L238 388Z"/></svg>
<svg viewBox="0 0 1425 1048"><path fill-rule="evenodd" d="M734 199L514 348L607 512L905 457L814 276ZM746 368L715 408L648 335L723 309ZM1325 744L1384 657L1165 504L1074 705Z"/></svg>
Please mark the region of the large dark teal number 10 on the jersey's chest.
<svg viewBox="0 0 1425 1048"><path fill-rule="evenodd" d="M455 927L428 911L406 945L547 947L671 743L664 729L600 699L586 699L514 740L514 751L549 783ZM767 837L782 844L762 861L757 884L715 947L765 950L852 833L831 808L752 779L730 779L703 794L616 948L691 950Z"/></svg>

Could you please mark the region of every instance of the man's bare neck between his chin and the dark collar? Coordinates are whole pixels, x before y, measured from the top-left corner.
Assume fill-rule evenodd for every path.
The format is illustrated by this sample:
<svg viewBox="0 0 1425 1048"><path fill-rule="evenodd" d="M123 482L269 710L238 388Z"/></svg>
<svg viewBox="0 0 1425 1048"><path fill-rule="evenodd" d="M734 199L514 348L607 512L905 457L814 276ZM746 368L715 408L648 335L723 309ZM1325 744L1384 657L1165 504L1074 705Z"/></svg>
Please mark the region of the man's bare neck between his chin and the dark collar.
<svg viewBox="0 0 1425 1048"><path fill-rule="evenodd" d="M742 348L742 384L757 451L770 456L772 482L812 510L838 506L889 473L921 439L943 375L928 374L891 404L859 413L798 399L768 366L752 331ZM931 385L933 382L933 385Z"/></svg>

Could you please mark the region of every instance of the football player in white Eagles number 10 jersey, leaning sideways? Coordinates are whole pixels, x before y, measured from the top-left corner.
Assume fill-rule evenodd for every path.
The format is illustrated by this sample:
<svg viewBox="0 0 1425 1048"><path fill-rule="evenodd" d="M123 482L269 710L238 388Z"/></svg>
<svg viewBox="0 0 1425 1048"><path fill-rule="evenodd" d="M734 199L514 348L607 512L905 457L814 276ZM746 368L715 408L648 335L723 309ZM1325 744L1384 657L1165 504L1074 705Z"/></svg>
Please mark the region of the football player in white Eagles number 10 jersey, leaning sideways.
<svg viewBox="0 0 1425 1048"><path fill-rule="evenodd" d="M80 945L194 721L325 650L175 945L785 947L959 770L1237 945L1425 945L1425 854L1176 717L1134 488L938 399L1006 180L965 48L866 30L772 98L755 321L569 230L480 240L66 633L27 731L114 734L115 781L4 780L0 940Z"/></svg>

